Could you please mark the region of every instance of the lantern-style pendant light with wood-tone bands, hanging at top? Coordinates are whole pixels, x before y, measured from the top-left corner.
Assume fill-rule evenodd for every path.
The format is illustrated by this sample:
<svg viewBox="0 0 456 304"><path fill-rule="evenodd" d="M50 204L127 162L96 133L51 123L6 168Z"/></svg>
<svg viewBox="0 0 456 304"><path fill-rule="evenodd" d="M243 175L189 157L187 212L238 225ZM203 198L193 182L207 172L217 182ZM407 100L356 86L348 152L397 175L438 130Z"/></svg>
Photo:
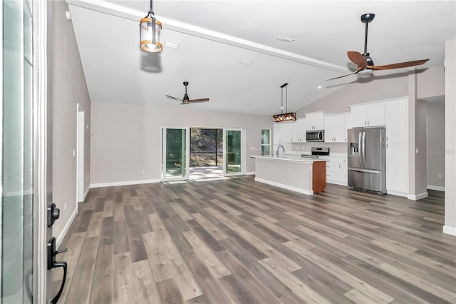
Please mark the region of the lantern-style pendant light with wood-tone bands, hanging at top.
<svg viewBox="0 0 456 304"><path fill-rule="evenodd" d="M152 53L162 51L162 44L160 44L161 31L162 23L155 19L155 14L152 9L152 0L150 0L150 11L147 13L147 16L140 21L141 49Z"/></svg>

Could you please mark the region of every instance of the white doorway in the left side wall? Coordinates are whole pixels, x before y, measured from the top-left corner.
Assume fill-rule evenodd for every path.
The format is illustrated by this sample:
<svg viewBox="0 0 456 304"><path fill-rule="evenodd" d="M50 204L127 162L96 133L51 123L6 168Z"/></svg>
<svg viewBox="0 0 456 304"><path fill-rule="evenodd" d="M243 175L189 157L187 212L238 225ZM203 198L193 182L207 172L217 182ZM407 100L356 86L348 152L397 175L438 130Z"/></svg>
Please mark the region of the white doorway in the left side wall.
<svg viewBox="0 0 456 304"><path fill-rule="evenodd" d="M84 189L84 141L86 130L86 111L80 103L76 104L76 115L76 203L80 203L84 201L86 192L86 189Z"/></svg>

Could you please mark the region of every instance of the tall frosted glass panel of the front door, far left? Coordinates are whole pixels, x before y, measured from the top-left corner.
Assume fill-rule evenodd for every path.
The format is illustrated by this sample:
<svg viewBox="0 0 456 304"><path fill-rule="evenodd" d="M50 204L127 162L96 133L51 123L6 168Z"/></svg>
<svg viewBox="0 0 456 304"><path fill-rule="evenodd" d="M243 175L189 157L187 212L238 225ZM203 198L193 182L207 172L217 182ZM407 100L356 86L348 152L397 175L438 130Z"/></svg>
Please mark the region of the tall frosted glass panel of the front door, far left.
<svg viewBox="0 0 456 304"><path fill-rule="evenodd" d="M32 16L26 1L2 1L1 299L31 303L33 268Z"/></svg>

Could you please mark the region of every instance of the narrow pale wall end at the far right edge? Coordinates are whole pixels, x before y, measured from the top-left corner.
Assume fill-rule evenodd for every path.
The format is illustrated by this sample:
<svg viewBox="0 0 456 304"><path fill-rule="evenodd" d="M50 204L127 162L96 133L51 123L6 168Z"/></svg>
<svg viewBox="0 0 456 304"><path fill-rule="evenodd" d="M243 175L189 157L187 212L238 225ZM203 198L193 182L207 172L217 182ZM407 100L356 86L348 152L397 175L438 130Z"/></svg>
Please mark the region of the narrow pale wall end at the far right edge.
<svg viewBox="0 0 456 304"><path fill-rule="evenodd" d="M456 43L445 42L445 226L456 235Z"/></svg>

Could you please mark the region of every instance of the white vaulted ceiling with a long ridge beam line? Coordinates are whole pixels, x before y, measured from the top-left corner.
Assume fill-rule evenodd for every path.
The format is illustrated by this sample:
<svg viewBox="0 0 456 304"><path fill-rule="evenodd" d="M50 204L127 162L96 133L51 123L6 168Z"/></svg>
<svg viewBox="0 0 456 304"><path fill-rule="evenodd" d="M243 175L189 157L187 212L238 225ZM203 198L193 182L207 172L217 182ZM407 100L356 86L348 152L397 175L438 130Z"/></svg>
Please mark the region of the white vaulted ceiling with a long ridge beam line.
<svg viewBox="0 0 456 304"><path fill-rule="evenodd" d="M211 100L187 107L272 115L280 113L283 83L294 111L358 79L325 81L355 67L346 51L363 52L361 14L375 14L368 51L377 65L430 59L422 68L443 66L445 41L456 38L456 1L155 0L162 42L179 47L149 54L138 46L138 21L150 1L67 2L97 102L177 107L165 95L182 97L189 81L190 98ZM242 58L253 62L240 64Z"/></svg>

